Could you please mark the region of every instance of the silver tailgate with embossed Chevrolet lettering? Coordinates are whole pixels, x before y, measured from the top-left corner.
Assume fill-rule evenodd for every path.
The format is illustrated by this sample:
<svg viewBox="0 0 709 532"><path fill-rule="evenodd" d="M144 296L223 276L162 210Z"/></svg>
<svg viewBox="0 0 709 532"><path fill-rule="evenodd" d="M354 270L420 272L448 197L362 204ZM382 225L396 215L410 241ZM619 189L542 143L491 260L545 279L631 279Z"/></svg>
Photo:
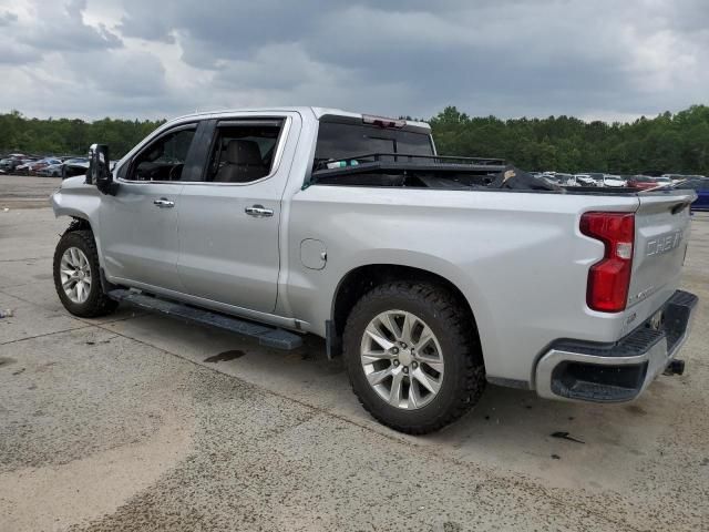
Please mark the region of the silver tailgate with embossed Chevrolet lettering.
<svg viewBox="0 0 709 532"><path fill-rule="evenodd" d="M679 288L695 197L692 191L638 194L628 308L646 301L643 314L651 313Z"/></svg>

